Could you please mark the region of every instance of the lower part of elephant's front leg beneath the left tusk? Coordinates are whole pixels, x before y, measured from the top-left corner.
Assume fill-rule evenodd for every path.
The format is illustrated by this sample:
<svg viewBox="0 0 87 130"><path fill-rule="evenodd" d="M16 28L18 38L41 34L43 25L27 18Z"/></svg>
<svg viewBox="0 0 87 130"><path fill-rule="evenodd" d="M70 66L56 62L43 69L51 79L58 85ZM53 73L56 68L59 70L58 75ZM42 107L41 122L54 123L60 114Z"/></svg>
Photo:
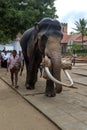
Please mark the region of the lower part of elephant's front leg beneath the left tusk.
<svg viewBox="0 0 87 130"><path fill-rule="evenodd" d="M56 96L56 91L54 89L54 82L52 80L47 80L46 81L45 94L48 97L54 97L54 96Z"/></svg>

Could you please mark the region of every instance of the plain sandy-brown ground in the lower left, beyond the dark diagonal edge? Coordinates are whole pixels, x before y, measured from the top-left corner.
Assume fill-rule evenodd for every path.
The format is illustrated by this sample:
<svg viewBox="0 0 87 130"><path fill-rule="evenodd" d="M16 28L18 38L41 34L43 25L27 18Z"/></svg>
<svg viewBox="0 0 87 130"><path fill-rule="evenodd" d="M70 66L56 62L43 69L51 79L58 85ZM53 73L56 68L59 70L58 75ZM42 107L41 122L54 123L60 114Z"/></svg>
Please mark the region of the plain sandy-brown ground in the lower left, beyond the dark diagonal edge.
<svg viewBox="0 0 87 130"><path fill-rule="evenodd" d="M58 130L0 79L0 130Z"/></svg>

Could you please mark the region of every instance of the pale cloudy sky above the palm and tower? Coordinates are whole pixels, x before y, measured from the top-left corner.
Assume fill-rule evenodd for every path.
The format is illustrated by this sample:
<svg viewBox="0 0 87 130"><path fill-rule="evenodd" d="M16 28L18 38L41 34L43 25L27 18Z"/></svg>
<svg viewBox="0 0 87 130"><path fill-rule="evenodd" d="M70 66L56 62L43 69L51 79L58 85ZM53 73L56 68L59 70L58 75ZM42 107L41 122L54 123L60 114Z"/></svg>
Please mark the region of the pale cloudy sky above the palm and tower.
<svg viewBox="0 0 87 130"><path fill-rule="evenodd" d="M74 31L75 22L81 18L87 19L87 4L86 0L56 0L56 14L58 20L68 24L68 34Z"/></svg>

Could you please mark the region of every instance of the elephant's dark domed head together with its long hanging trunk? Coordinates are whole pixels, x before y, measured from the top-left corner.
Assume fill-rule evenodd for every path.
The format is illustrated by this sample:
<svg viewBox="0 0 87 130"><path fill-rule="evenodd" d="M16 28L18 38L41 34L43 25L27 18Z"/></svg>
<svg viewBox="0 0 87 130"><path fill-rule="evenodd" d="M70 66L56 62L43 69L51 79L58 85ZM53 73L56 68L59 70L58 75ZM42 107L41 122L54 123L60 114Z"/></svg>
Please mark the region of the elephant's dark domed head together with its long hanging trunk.
<svg viewBox="0 0 87 130"><path fill-rule="evenodd" d="M50 59L50 72L59 82L56 82L57 92L61 91L61 40L63 34L61 32L61 24L58 20L44 18L35 24L37 30L37 43L43 57ZM46 70L47 72L47 70ZM49 72L48 72L49 73ZM67 74L67 72L66 72ZM53 78L50 77L52 80ZM71 85L73 84L72 79Z"/></svg>

